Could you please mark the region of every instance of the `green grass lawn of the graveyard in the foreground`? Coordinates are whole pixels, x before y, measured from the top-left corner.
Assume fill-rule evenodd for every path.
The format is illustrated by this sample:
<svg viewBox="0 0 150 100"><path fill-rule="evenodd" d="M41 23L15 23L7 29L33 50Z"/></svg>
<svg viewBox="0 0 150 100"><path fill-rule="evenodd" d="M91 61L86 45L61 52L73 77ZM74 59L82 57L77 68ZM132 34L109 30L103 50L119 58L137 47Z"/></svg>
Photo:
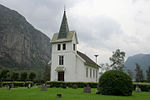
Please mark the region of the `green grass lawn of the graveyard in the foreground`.
<svg viewBox="0 0 150 100"><path fill-rule="evenodd" d="M150 100L150 92L133 92L132 96L108 96L92 93L83 93L83 89L61 89L49 88L48 91L40 91L39 88L0 88L0 100ZM57 98L56 94L62 93L62 98Z"/></svg>

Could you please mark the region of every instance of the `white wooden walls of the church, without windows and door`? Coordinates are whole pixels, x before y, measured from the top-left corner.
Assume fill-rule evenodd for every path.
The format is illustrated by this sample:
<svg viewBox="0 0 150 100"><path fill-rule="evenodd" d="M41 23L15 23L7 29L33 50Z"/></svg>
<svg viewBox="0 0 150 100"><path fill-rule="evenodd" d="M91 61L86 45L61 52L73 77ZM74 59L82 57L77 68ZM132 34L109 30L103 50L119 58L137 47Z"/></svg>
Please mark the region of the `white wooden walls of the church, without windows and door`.
<svg viewBox="0 0 150 100"><path fill-rule="evenodd" d="M58 72L55 71L57 67L65 67L64 72L64 81L69 82L96 82L96 75L93 77L93 70L96 70L92 67L85 66L84 60L79 57L76 53L77 51L77 41L75 35L71 42L65 42L66 50L62 49L64 43L52 44L52 65L51 65L51 81L57 81ZM61 50L57 50L57 45L61 44ZM73 50L73 44L76 44L76 50ZM64 65L59 65L59 55L64 56ZM86 77L86 68L92 68L92 77L90 78L90 71L88 71L88 77Z"/></svg>

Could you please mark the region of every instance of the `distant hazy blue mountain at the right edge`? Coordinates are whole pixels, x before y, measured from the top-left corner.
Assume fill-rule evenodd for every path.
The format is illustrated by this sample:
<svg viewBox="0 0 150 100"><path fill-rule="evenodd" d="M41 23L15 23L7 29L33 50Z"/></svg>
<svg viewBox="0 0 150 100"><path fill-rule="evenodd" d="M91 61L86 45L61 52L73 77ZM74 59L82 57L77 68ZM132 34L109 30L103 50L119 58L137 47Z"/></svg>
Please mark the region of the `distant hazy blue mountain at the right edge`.
<svg viewBox="0 0 150 100"><path fill-rule="evenodd" d="M150 66L150 54L137 54L128 59L125 62L125 66L135 73L135 64L139 64L143 69L143 73L146 74L146 70Z"/></svg>

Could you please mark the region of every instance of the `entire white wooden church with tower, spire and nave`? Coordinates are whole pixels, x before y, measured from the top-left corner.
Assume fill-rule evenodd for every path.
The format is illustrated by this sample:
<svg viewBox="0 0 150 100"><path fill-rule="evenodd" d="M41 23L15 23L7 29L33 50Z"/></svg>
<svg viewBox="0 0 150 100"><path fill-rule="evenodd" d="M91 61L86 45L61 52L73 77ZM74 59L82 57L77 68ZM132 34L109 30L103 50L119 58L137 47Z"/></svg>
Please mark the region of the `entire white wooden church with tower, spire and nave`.
<svg viewBox="0 0 150 100"><path fill-rule="evenodd" d="M78 43L77 33L69 30L64 10L60 30L51 40L51 81L98 82L99 65L77 50Z"/></svg>

